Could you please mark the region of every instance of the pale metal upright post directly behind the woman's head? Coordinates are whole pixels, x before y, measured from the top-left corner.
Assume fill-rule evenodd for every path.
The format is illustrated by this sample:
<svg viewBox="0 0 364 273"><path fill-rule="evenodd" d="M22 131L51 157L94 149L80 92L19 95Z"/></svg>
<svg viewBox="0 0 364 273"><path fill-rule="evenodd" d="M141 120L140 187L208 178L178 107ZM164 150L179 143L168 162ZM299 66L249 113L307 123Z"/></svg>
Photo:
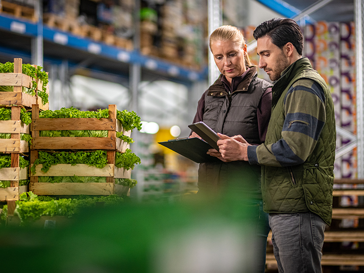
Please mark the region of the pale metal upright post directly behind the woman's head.
<svg viewBox="0 0 364 273"><path fill-rule="evenodd" d="M208 0L207 2L208 8L208 35L222 25L222 8L220 0ZM211 51L208 51L208 76L209 76L209 85L214 83L217 77L220 75L218 71L214 58L212 56Z"/></svg>

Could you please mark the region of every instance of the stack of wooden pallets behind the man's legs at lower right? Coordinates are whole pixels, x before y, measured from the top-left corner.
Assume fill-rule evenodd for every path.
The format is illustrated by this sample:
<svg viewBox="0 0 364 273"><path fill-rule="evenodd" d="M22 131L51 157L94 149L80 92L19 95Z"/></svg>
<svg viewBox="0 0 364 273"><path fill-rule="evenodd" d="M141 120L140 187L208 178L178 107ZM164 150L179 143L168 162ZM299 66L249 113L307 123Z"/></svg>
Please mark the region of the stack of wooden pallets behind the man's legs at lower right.
<svg viewBox="0 0 364 273"><path fill-rule="evenodd" d="M325 231L322 267L325 273L364 270L364 208L363 204L343 207L340 199L347 196L364 196L364 179L335 179L333 192L332 224ZM343 189L338 185L352 185ZM359 186L360 185L360 186ZM346 227L343 220L355 222ZM278 272L277 262L272 253L271 235L267 242L266 272Z"/></svg>

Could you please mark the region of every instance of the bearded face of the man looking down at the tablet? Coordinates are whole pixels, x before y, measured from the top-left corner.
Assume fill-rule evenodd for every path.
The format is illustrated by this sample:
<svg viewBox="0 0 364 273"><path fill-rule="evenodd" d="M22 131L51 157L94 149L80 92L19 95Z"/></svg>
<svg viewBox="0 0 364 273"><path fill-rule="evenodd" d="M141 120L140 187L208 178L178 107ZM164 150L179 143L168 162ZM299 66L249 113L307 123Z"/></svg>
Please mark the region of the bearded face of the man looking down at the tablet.
<svg viewBox="0 0 364 273"><path fill-rule="evenodd" d="M259 68L264 69L271 81L278 80L282 71L290 65L289 59L284 54L284 49L285 47L280 49L272 43L267 35L257 39Z"/></svg>

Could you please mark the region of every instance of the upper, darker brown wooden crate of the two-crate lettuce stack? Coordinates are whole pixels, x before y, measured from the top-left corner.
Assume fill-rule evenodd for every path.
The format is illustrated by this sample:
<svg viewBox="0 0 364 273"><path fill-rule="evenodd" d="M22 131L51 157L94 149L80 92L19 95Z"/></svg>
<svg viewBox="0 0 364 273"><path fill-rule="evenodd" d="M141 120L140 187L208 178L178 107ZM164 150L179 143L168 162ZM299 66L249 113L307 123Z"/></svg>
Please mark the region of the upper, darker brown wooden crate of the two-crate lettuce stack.
<svg viewBox="0 0 364 273"><path fill-rule="evenodd" d="M32 106L32 150L118 150L125 152L129 147L116 138L116 131L130 136L116 119L116 105L109 105L110 118L39 118L38 105ZM39 136L42 130L108 130L107 138Z"/></svg>

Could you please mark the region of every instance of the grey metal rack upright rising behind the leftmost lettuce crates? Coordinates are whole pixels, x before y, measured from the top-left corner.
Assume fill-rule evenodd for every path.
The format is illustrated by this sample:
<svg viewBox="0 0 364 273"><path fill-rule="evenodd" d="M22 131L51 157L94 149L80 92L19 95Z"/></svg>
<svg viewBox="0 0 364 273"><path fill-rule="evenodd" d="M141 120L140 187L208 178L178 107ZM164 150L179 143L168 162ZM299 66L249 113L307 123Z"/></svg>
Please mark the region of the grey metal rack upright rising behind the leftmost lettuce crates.
<svg viewBox="0 0 364 273"><path fill-rule="evenodd" d="M34 12L37 18L37 35L31 38L31 62L43 67L43 12L42 0L34 1Z"/></svg>

